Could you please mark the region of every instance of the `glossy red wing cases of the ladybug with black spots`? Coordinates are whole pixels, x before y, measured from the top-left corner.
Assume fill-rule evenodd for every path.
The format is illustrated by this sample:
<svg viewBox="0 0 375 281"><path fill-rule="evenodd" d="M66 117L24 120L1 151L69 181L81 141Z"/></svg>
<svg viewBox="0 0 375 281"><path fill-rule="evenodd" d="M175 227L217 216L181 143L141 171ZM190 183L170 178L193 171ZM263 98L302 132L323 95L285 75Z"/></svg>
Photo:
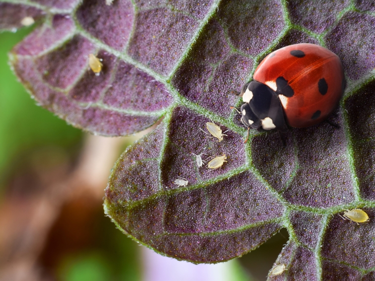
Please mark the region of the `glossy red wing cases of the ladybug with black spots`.
<svg viewBox="0 0 375 281"><path fill-rule="evenodd" d="M290 45L270 53L253 76L275 92L280 77L294 92L290 97L278 94L287 123L292 127L307 127L326 119L338 106L345 87L340 58L314 44ZM319 117L312 119L317 112Z"/></svg>

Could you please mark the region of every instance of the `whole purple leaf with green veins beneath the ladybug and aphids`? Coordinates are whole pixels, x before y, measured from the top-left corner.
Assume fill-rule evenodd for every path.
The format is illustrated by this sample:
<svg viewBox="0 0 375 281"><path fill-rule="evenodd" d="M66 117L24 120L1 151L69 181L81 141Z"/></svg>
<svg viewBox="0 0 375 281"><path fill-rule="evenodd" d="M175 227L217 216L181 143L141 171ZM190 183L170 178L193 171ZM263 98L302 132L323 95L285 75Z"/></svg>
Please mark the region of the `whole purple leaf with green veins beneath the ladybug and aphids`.
<svg viewBox="0 0 375 281"><path fill-rule="evenodd" d="M200 263L241 256L286 228L290 240L274 264L286 270L270 280L374 278L373 1L39 0L0 8L2 29L38 20L10 58L47 109L104 135L164 117L110 177L105 211L125 234ZM340 127L290 128L286 148L277 133L251 132L245 145L246 128L229 108L241 99L231 91L267 54L303 42L343 62L344 97L328 119ZM101 59L99 76L89 54ZM207 132L210 118L221 142ZM206 167L219 156L226 162ZM369 222L340 217L352 208Z"/></svg>

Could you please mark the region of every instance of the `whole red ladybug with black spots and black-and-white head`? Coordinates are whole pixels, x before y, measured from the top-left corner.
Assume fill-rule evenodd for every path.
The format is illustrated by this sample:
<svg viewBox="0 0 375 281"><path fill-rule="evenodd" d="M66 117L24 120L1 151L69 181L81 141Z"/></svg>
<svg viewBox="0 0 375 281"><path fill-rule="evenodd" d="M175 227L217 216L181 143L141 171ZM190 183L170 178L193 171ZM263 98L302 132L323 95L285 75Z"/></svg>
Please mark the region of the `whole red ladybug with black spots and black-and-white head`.
<svg viewBox="0 0 375 281"><path fill-rule="evenodd" d="M337 108L345 88L340 58L322 46L307 43L267 55L253 79L237 94L244 101L239 113L248 137L250 128L275 129L283 146L287 124L303 128L322 122Z"/></svg>

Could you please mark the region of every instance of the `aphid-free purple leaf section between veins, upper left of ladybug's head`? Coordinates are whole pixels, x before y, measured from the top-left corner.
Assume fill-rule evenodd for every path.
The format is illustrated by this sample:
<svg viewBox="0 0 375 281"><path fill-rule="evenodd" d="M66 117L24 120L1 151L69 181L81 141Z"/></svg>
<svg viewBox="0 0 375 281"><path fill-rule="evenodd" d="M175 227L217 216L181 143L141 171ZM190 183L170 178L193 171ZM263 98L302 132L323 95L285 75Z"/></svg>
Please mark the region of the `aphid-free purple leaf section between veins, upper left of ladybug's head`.
<svg viewBox="0 0 375 281"><path fill-rule="evenodd" d="M228 105L237 100L231 90L241 90L253 60L231 51L220 23L212 19L192 46L189 57L173 77L172 85L188 100L228 117Z"/></svg>

